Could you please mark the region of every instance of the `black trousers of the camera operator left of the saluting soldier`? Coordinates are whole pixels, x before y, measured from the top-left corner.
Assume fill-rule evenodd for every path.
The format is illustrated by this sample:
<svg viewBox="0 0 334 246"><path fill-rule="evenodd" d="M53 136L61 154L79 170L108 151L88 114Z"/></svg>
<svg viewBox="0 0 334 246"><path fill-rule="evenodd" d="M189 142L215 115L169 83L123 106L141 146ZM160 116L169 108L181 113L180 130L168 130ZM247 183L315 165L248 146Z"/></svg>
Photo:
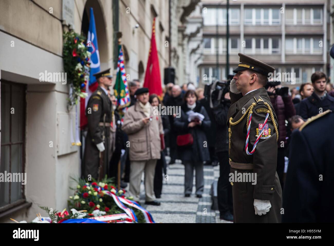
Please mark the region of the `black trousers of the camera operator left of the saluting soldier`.
<svg viewBox="0 0 334 246"><path fill-rule="evenodd" d="M219 160L219 178L217 184L218 209L220 214L230 212L233 214L232 186L229 179L230 166L228 162L228 152L217 152Z"/></svg>

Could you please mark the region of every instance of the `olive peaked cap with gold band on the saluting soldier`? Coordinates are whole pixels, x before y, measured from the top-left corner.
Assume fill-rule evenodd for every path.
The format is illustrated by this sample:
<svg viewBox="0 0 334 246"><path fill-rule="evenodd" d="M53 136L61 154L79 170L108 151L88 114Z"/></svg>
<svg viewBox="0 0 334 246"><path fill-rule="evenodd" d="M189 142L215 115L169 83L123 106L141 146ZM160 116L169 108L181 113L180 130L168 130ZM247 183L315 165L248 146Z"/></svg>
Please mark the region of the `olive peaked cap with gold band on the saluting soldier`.
<svg viewBox="0 0 334 246"><path fill-rule="evenodd" d="M272 66L269 66L268 64L256 60L250 56L246 56L242 53L239 53L238 56L240 58L239 65L236 69L233 70L233 73L237 73L238 71L245 69L251 69L269 77L269 73L274 73L275 71L275 68Z"/></svg>

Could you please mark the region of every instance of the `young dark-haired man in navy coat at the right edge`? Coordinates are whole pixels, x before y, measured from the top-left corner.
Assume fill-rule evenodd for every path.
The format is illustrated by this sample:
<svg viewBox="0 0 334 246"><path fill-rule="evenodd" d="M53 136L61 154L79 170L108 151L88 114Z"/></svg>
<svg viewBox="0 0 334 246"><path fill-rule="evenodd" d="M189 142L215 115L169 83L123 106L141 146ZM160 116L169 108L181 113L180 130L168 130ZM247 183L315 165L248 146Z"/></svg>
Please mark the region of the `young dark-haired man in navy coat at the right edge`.
<svg viewBox="0 0 334 246"><path fill-rule="evenodd" d="M317 71L312 74L311 81L314 92L307 100L300 102L299 115L304 119L322 113L327 109L334 110L334 97L328 95L326 91L326 74Z"/></svg>

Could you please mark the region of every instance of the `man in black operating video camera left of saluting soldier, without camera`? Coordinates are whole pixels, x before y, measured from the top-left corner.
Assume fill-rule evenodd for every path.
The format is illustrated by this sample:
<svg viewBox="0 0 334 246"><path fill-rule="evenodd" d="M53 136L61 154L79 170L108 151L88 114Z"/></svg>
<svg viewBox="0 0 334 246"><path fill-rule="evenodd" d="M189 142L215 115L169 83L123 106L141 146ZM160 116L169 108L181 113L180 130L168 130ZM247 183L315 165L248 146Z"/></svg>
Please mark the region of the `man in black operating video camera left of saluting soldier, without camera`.
<svg viewBox="0 0 334 246"><path fill-rule="evenodd" d="M224 102L212 109L212 114L217 124L215 152L219 161L218 208L220 219L227 221L233 221L232 186L228 181L230 166L228 162L228 130L226 126L227 112L230 105L229 93L226 92L224 93Z"/></svg>

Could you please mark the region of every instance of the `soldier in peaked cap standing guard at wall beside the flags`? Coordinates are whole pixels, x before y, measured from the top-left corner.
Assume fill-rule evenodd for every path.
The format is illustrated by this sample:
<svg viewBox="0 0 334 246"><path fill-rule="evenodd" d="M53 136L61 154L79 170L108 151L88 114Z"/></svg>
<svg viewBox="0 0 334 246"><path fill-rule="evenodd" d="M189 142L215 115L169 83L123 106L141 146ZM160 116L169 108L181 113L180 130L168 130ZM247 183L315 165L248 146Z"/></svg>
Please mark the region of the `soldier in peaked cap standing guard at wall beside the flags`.
<svg viewBox="0 0 334 246"><path fill-rule="evenodd" d="M108 174L109 161L112 156L110 123L113 121L114 111L107 90L112 85L113 76L110 74L110 69L96 73L94 76L99 87L87 103L88 133L81 176L88 178L88 175L92 175L92 178L101 179Z"/></svg>

